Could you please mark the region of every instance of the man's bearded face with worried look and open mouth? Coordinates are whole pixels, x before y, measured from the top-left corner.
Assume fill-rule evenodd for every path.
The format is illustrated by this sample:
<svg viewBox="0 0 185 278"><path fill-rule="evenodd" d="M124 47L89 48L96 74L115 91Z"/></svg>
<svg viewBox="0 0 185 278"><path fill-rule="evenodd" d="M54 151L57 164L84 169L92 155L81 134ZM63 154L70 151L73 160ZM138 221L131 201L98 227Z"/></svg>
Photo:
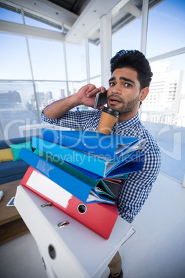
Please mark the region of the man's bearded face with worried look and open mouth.
<svg viewBox="0 0 185 278"><path fill-rule="evenodd" d="M108 107L119 111L119 115L133 118L140 102L140 83L137 71L131 68L117 68L109 80L107 92ZM119 116L119 118L120 118Z"/></svg>

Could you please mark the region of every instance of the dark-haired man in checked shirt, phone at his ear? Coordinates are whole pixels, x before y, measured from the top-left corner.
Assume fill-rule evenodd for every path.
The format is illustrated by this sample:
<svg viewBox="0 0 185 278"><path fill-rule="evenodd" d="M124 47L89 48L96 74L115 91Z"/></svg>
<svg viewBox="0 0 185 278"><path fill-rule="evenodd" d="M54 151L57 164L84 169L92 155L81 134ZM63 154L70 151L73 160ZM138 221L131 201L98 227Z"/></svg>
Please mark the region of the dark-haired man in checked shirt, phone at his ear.
<svg viewBox="0 0 185 278"><path fill-rule="evenodd" d="M149 92L153 73L148 60L138 50L121 50L110 59L111 77L107 91L108 107L119 111L119 122L111 133L121 136L141 137L146 140L142 149L145 154L144 165L140 172L129 174L119 191L117 209L119 215L131 223L148 197L160 168L160 151L157 143L142 125L138 109ZM96 88L93 84L83 86L79 91L63 100L53 102L43 110L42 119L50 124L73 129L96 131L101 109L93 111L70 111L80 104L93 107L96 94L104 87ZM110 264L111 277L123 277L119 252Z"/></svg>

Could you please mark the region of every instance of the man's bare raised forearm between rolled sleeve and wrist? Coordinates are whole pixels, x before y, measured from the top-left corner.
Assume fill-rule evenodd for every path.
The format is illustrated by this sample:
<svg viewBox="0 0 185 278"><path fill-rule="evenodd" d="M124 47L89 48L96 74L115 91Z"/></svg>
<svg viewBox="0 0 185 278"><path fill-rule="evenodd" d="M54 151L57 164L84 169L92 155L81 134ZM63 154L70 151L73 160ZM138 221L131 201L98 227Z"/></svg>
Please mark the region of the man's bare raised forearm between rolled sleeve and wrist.
<svg viewBox="0 0 185 278"><path fill-rule="evenodd" d="M70 95L68 98L64 98L63 100L57 100L56 102L53 102L43 110L43 113L48 118L57 119L62 117L70 109L80 104L79 98L77 98L77 95L74 94Z"/></svg>

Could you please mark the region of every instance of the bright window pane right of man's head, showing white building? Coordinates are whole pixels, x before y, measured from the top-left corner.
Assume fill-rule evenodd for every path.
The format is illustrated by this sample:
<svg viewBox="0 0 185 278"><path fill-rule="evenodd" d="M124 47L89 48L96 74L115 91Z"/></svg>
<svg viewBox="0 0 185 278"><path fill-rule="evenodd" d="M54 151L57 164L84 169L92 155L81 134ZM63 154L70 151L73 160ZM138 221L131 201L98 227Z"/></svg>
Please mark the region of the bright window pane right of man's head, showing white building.
<svg viewBox="0 0 185 278"><path fill-rule="evenodd" d="M142 104L142 120L185 127L185 107L179 110L185 92L185 54L150 64L153 80Z"/></svg>

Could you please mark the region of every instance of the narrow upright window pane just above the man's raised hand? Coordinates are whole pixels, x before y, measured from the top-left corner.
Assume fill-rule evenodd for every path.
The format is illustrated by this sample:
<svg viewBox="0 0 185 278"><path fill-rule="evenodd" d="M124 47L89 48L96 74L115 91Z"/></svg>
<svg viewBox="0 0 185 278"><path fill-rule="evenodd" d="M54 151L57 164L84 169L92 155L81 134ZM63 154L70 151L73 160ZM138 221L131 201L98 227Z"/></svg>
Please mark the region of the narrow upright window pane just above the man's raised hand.
<svg viewBox="0 0 185 278"><path fill-rule="evenodd" d="M101 74L100 44L97 46L89 42L88 48L89 48L90 77L100 75Z"/></svg>

